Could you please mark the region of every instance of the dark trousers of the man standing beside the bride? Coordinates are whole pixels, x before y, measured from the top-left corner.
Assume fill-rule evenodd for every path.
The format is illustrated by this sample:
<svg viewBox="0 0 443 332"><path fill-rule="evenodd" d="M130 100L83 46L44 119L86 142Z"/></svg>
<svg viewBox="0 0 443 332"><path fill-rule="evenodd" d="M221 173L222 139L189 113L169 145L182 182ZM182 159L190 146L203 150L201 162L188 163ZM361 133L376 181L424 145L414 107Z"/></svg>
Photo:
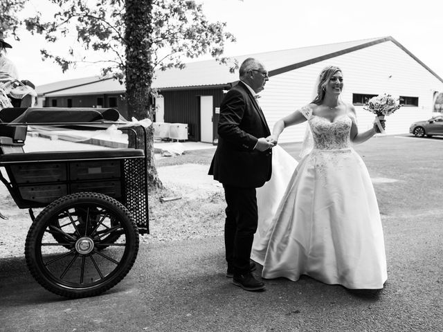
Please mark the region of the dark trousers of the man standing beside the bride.
<svg viewBox="0 0 443 332"><path fill-rule="evenodd" d="M249 272L249 257L257 230L257 197L255 188L223 185L226 199L224 241L228 267L235 274Z"/></svg>

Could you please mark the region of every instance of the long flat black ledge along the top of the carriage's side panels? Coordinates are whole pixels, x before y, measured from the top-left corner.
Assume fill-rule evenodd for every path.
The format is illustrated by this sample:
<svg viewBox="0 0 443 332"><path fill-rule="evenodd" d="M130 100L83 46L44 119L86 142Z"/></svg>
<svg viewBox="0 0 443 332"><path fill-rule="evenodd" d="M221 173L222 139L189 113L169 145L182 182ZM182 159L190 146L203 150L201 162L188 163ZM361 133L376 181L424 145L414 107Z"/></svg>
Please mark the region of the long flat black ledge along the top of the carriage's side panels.
<svg viewBox="0 0 443 332"><path fill-rule="evenodd" d="M91 151L38 151L24 153L1 154L0 163L42 163L67 160L102 160L102 159L127 159L141 158L145 154L141 149L102 149Z"/></svg>

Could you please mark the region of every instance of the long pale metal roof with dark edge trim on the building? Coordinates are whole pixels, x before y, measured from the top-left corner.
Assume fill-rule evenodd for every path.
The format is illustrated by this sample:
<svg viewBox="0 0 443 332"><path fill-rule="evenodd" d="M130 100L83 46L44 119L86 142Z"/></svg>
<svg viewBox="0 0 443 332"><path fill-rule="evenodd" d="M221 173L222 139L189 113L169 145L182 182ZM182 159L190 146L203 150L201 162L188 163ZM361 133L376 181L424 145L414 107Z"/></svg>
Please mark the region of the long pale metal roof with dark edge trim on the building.
<svg viewBox="0 0 443 332"><path fill-rule="evenodd" d="M231 58L237 59L239 64L242 63L247 57L255 57L260 59L260 61L265 64L266 69L269 71L269 76L273 76L384 42L393 42L399 46L399 48L408 53L410 57L413 57L413 59L426 68L427 71L443 82L442 78L434 73L431 68L426 66L417 57L415 57L413 53L410 53L409 50L404 48L404 46L390 36L361 39L352 42L291 48L287 50L275 50L264 53L239 55ZM88 79L90 82L87 82ZM49 97L92 93L123 93L125 91L125 86L120 85L118 81L109 78L97 80L97 77L95 77L95 80L93 80L93 77L86 77L84 80L85 82L71 80L71 86L69 86L68 81L54 83L53 86L58 86L59 89L57 91L46 89L47 92L44 94ZM229 66L226 64L219 64L219 62L216 62L215 59L210 59L205 61L190 62L186 64L186 67L183 69L170 68L166 71L156 72L156 77L152 82L152 87L156 89L185 89L202 86L226 86L236 82L237 80L238 71L235 73L230 73ZM46 85L51 86L51 84ZM66 87L64 89L60 89L61 86ZM37 87L37 91L43 91L44 89L41 89L42 87Z"/></svg>

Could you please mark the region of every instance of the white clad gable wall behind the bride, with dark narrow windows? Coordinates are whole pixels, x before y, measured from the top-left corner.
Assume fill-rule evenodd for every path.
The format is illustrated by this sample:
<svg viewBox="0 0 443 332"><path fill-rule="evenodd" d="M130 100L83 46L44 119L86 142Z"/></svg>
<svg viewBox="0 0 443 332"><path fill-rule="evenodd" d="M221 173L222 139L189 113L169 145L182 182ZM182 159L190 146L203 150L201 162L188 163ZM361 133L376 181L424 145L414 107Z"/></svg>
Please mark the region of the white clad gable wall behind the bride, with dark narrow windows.
<svg viewBox="0 0 443 332"><path fill-rule="evenodd" d="M384 42L271 77L260 93L260 105L271 129L278 119L312 100L316 75L327 65L338 66L343 71L345 102L352 102L352 93L390 93L419 98L418 107L401 107L386 118L388 134L408 133L413 122L431 118L433 91L443 91L443 83L437 77L394 43ZM372 127L372 113L361 106L355 108L359 130ZM280 142L302 140L305 125L286 129Z"/></svg>

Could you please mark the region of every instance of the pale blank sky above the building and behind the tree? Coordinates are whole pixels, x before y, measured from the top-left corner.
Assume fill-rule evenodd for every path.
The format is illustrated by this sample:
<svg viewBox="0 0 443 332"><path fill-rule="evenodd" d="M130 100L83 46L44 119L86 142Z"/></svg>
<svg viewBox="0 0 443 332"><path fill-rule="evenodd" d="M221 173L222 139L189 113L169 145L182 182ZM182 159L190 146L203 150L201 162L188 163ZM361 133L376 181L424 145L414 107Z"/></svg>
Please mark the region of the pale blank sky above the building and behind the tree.
<svg viewBox="0 0 443 332"><path fill-rule="evenodd" d="M92 0L91 0L92 1ZM50 15L46 0L30 0L20 15L35 10ZM439 0L197 0L210 21L226 22L237 42L225 47L226 56L285 50L359 39L392 36L437 75L443 77L443 1ZM62 73L39 50L48 46L41 36L20 32L20 41L6 39L8 57L20 80L36 85L99 75L96 65L79 65ZM50 49L66 49L63 44ZM78 49L80 53L83 50ZM84 53L87 54L87 53ZM201 59L209 59L209 56ZM194 60L192 60L194 61ZM266 64L265 64L266 65Z"/></svg>

